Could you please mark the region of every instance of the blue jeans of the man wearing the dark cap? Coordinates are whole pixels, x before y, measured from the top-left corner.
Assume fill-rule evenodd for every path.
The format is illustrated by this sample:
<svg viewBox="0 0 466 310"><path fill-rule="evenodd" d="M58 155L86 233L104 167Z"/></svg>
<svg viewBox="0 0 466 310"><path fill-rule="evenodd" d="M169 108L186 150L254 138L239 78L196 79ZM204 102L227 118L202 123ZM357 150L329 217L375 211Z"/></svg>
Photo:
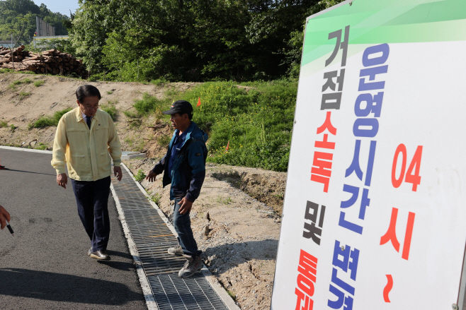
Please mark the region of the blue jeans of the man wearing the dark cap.
<svg viewBox="0 0 466 310"><path fill-rule="evenodd" d="M176 233L178 234L178 243L180 244L181 249L183 249L184 254L200 256L202 251L198 251L198 244L195 243L189 213L180 214L181 205L178 205L180 201L181 198L175 198L173 213L173 222Z"/></svg>

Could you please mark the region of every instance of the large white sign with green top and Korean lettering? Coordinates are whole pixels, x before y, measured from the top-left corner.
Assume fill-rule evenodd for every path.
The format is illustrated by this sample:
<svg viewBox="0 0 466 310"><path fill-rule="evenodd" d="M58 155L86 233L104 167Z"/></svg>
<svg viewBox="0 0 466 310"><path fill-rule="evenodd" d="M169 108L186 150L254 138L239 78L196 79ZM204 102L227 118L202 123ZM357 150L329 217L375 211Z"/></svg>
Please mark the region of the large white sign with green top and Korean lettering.
<svg viewBox="0 0 466 310"><path fill-rule="evenodd" d="M308 18L271 309L462 309L465 51L466 1Z"/></svg>

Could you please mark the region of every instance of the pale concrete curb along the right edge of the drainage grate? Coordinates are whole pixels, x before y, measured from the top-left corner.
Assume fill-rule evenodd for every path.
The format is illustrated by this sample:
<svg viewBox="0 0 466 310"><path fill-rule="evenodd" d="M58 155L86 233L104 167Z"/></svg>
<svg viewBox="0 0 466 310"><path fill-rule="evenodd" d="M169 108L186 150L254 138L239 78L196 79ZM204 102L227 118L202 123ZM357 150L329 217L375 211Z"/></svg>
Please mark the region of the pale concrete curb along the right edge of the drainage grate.
<svg viewBox="0 0 466 310"><path fill-rule="evenodd" d="M123 164L123 162L121 163L121 167L124 167L127 171L128 174L130 174L130 176L132 177L132 179L136 182L137 184L137 187L140 188L140 190L142 191L142 193L144 193L144 196L146 196L147 198L149 198L149 194L147 193L147 191L144 189L144 187L142 187L142 185L140 184L140 182L136 181L135 179L135 176L132 174L132 172L130 171L130 169L128 169L128 167L126 167L125 164ZM149 200L149 199L148 199ZM159 206L154 203L154 201L150 201L150 204L152 205L152 207L157 210L157 212L159 213L160 217L164 220L164 222L166 223L166 226L169 227L169 229L171 230L171 232L173 232L173 234L175 236L178 237L178 234L176 233L176 230L175 230L175 227L173 227L173 225L171 225L171 222L169 221L168 218L166 218L165 214L162 212L162 210L159 208ZM227 291L225 291L225 289L223 287L221 287L215 280L214 280L214 277L212 275L212 273L210 273L210 270L208 270L208 268L203 265L203 269L200 270L201 273L203 273L203 275L205 276L205 280L207 280L210 284L210 286L212 287L213 290L215 290L215 292L218 294L218 296L220 297L220 299L222 299L222 302L225 303L225 305L227 306L227 308L229 310L241 310L239 308L239 306L234 302L234 300L232 299L232 297L229 296L229 294L227 293Z"/></svg>

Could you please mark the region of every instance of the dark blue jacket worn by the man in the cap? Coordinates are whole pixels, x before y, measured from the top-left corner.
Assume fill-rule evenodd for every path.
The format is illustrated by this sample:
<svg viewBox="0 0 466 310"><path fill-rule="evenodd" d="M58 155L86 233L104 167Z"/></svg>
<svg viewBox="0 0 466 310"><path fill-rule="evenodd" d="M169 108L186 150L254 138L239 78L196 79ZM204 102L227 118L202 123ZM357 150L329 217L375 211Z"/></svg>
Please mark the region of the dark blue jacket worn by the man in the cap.
<svg viewBox="0 0 466 310"><path fill-rule="evenodd" d="M171 148L175 137L178 136L178 129L171 137L166 155L157 162L152 171L156 174L164 172L162 184L164 187L171 184L170 200L186 197L188 201L194 202L199 197L200 188L205 179L205 159L207 158L205 142L208 136L193 121L186 131L185 141L171 167L171 179L166 170L169 166Z"/></svg>

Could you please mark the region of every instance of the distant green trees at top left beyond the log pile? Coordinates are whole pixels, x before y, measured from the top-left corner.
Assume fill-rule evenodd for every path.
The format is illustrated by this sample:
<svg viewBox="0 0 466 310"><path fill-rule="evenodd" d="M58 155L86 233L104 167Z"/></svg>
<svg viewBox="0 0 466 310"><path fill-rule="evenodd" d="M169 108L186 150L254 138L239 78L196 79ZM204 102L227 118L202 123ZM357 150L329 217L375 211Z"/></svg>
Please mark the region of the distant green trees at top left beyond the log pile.
<svg viewBox="0 0 466 310"><path fill-rule="evenodd" d="M56 35L67 35L67 28L63 21L69 17L60 13L52 13L45 4L37 6L32 0L0 1L0 41L18 40L21 44L28 44L36 31L35 16L55 27Z"/></svg>

